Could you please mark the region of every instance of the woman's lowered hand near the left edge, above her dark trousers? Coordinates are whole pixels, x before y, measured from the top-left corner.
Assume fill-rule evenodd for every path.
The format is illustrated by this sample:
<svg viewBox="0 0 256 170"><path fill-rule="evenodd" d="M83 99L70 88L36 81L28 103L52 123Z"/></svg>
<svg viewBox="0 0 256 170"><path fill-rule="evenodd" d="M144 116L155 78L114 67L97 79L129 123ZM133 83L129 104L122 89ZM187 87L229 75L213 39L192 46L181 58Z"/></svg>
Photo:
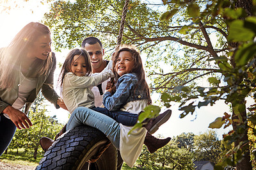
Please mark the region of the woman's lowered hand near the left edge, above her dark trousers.
<svg viewBox="0 0 256 170"><path fill-rule="evenodd" d="M8 105L3 113L8 114L10 120L15 124L19 129L29 128L32 126L32 122L29 120L28 116L17 109L14 109L12 106Z"/></svg>

